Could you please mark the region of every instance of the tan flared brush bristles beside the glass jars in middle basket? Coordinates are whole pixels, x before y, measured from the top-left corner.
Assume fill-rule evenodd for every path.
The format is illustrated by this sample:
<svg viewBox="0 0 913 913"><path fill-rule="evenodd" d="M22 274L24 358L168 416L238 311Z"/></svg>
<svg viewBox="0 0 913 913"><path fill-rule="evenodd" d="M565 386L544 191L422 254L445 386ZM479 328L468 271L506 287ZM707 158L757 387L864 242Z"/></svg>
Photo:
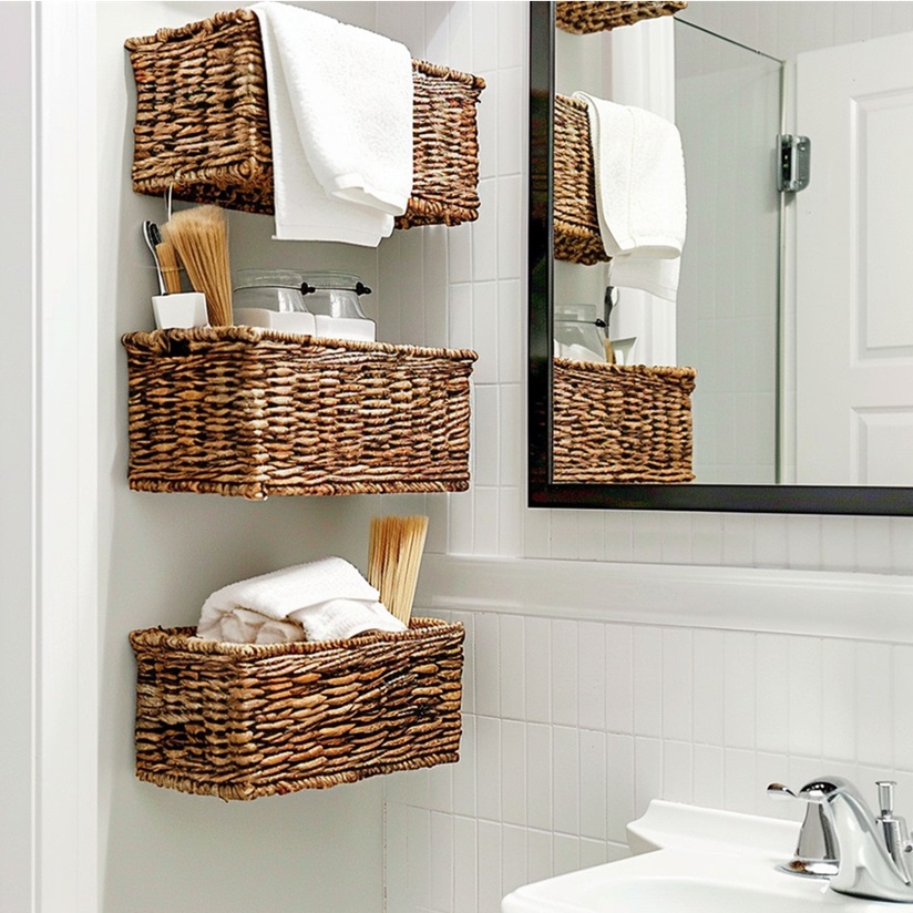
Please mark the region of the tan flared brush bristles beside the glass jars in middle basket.
<svg viewBox="0 0 913 913"><path fill-rule="evenodd" d="M182 209L163 230L165 239L177 250L194 291L206 296L209 325L230 327L232 270L225 213L218 206Z"/></svg>

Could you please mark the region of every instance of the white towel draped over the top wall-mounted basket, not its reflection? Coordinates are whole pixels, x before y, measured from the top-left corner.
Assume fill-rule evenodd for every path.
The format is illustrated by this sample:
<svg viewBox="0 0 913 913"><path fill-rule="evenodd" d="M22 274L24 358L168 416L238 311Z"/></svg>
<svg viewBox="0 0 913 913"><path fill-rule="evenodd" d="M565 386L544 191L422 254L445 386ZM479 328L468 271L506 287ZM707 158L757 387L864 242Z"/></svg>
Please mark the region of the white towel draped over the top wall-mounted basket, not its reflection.
<svg viewBox="0 0 913 913"><path fill-rule="evenodd" d="M285 3L260 23L276 237L376 247L412 189L412 58L406 45Z"/></svg>

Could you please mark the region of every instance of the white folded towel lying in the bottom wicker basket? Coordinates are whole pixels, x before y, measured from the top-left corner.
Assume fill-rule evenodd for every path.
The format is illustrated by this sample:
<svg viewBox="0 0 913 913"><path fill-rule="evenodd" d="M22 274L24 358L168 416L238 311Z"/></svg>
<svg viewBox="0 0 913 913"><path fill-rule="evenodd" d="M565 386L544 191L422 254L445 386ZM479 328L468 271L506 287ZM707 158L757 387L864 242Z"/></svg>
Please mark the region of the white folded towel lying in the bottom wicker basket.
<svg viewBox="0 0 913 913"><path fill-rule="evenodd" d="M229 584L203 604L197 637L236 644L334 640L366 630L406 630L378 591L339 557Z"/></svg>

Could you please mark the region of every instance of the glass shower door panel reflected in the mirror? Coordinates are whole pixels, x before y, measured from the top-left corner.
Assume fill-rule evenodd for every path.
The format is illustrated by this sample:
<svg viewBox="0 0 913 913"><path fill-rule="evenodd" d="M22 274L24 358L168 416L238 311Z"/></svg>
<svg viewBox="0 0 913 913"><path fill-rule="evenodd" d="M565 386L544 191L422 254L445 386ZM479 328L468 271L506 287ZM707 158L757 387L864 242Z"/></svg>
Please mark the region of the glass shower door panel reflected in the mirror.
<svg viewBox="0 0 913 913"><path fill-rule="evenodd" d="M781 61L675 22L676 123L688 187L678 363L698 370L702 484L780 475Z"/></svg>

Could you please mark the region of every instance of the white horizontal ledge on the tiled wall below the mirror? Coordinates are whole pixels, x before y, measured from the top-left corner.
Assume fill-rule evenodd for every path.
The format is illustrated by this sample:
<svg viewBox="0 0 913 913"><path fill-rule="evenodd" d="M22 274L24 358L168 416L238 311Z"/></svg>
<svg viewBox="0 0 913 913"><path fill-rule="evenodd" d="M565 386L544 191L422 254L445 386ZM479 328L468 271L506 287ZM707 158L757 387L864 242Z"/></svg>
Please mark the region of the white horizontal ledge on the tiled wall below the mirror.
<svg viewBox="0 0 913 913"><path fill-rule="evenodd" d="M427 554L416 606L913 643L913 577Z"/></svg>

